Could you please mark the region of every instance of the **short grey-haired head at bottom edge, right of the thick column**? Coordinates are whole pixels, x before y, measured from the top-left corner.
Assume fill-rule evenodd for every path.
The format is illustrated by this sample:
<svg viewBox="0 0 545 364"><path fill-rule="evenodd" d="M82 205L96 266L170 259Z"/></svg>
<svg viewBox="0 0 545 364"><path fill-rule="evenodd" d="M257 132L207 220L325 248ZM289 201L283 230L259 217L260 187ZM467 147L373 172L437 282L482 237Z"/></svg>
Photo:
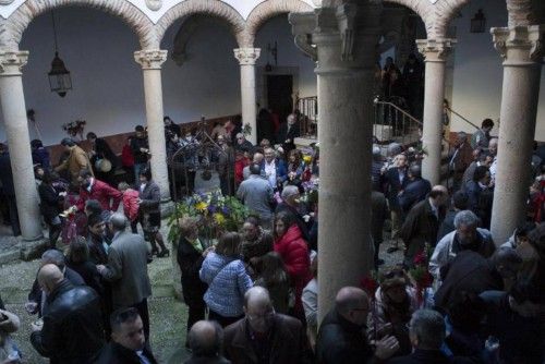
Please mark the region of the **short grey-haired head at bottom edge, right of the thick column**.
<svg viewBox="0 0 545 364"><path fill-rule="evenodd" d="M446 337L445 319L433 310L417 310L412 314L411 335L417 339L417 348L437 350Z"/></svg>

